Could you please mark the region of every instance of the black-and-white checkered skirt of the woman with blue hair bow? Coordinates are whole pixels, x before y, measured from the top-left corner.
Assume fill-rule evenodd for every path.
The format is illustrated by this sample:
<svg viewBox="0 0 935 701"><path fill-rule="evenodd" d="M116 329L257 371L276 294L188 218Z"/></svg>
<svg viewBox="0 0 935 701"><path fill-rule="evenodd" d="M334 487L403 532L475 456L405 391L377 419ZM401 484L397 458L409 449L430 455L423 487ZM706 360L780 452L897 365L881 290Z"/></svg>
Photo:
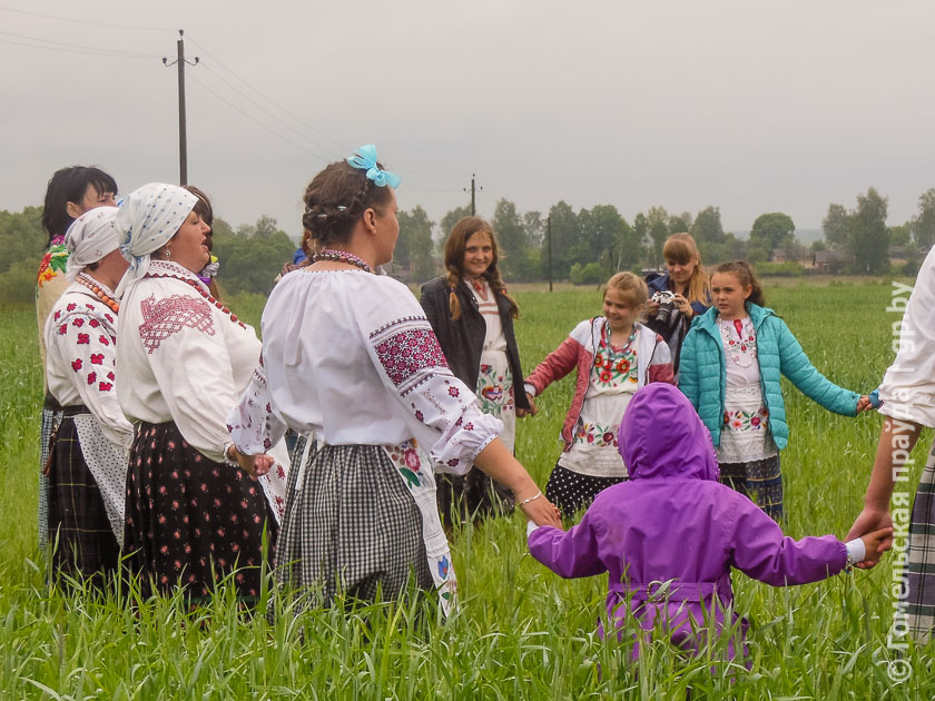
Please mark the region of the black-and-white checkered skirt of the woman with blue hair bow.
<svg viewBox="0 0 935 701"><path fill-rule="evenodd" d="M383 447L312 447L305 465L289 471L277 581L329 605L338 592L397 596L410 577L434 589L422 514Z"/></svg>

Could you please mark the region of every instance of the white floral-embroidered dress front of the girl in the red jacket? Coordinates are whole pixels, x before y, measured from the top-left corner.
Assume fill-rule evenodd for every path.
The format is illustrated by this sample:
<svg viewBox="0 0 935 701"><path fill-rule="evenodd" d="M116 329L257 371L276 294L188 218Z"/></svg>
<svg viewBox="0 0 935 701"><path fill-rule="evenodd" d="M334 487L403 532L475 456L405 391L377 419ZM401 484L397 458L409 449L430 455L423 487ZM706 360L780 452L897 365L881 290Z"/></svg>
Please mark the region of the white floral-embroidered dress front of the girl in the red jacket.
<svg viewBox="0 0 935 701"><path fill-rule="evenodd" d="M607 324L601 327L573 442L561 454L558 464L592 477L626 478L627 467L617 448L617 432L639 386L637 348L640 334L651 332L634 326L627 345L617 347L610 343L608 329Z"/></svg>

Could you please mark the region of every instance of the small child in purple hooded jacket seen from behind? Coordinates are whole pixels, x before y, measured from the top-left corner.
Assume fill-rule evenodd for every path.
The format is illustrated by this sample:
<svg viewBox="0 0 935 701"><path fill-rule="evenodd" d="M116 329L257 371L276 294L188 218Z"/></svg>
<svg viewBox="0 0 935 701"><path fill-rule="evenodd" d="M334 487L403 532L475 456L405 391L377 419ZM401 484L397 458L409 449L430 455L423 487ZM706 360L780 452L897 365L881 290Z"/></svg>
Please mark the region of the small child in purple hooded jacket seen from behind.
<svg viewBox="0 0 935 701"><path fill-rule="evenodd" d="M706 620L718 635L725 628L724 610L734 600L731 567L772 586L806 584L876 562L888 550L884 540L892 529L846 544L834 535L785 537L747 496L718 483L710 434L671 385L636 393L620 424L619 447L630 482L601 492L568 532L530 526L529 549L563 577L607 572L609 620L621 628L631 613L644 640L659 622L673 644L698 654ZM732 659L732 641L728 653Z"/></svg>

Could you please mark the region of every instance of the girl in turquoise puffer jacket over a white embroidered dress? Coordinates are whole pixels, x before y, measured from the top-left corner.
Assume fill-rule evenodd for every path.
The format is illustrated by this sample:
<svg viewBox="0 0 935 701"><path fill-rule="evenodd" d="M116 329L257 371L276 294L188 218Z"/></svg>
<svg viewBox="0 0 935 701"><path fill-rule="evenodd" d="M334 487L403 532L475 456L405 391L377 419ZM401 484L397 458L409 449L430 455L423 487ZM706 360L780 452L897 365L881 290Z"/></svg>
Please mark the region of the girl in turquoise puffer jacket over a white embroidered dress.
<svg viewBox="0 0 935 701"><path fill-rule="evenodd" d="M779 521L779 451L788 438L780 374L836 414L855 416L870 408L870 399L815 369L785 322L764 308L762 288L748 264L719 265L711 296L715 306L686 336L679 387L711 432L721 482L755 496Z"/></svg>

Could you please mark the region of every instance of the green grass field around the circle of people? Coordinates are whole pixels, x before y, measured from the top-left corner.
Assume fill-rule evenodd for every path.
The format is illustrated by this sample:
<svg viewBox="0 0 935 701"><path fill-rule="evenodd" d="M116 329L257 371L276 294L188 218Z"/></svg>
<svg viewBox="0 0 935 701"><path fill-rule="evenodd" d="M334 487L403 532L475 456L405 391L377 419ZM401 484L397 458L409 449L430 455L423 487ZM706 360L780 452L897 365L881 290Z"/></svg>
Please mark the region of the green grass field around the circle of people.
<svg viewBox="0 0 935 701"><path fill-rule="evenodd" d="M855 391L874 388L893 357L888 283L767 288L815 365ZM531 369L599 293L516 292L518 336ZM232 300L256 324L260 300ZM912 675L887 675L890 566L800 588L735 576L736 609L752 622L751 670L686 660L665 641L638 667L593 633L606 577L563 581L526 554L523 521L490 521L452 542L461 608L374 605L354 614L309 611L273 625L238 613L229 596L194 614L178 600L127 608L50 591L36 536L41 368L31 308L0 308L0 698L27 699L931 699L933 652L911 648ZM571 378L540 414L520 422L518 455L544 485ZM880 418L831 415L785 386L790 443L783 453L787 533L843 536L859 512ZM665 422L660 417L660 422ZM914 457L912 484L931 436ZM686 544L689 549L691 544ZM599 671L600 670L600 671Z"/></svg>

